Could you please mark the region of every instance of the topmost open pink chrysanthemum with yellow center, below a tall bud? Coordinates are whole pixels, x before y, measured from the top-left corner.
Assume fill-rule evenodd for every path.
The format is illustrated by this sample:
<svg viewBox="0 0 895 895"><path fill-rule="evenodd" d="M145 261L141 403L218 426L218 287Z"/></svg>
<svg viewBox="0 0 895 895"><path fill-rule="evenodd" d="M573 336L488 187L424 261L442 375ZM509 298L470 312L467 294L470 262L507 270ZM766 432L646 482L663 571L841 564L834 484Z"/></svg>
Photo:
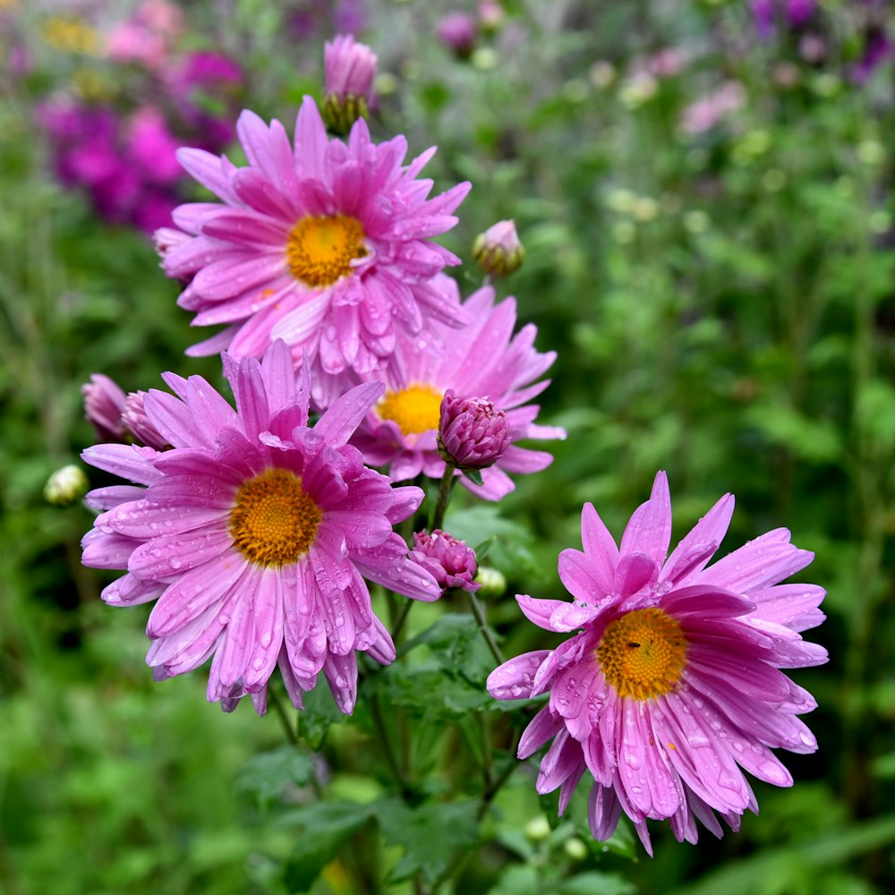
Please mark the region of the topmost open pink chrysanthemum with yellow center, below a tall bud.
<svg viewBox="0 0 895 895"><path fill-rule="evenodd" d="M310 97L294 147L282 124L252 112L236 130L248 167L177 154L224 203L176 209L192 239L163 256L168 276L191 280L179 303L196 311L193 326L230 324L189 354L260 356L281 338L316 370L368 373L387 364L397 333L465 324L456 295L433 280L459 259L431 237L456 224L469 183L427 199L432 183L418 175L434 148L405 166L405 138L377 145L362 120L347 143L329 140Z"/></svg>

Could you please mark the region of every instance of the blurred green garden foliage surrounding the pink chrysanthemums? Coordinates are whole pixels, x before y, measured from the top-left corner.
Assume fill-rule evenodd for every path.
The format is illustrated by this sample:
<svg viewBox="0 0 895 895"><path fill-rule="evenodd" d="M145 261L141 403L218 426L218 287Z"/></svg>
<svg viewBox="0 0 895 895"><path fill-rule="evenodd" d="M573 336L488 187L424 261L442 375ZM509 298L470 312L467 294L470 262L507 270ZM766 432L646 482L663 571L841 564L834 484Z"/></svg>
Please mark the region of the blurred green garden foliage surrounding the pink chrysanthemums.
<svg viewBox="0 0 895 895"><path fill-rule="evenodd" d="M891 889L891 9L795 5L4 4L4 890ZM437 238L463 261L462 296L485 276L476 236L515 221L524 265L493 288L557 354L539 422L567 439L526 442L553 463L511 473L499 503L454 489L430 531L476 548L479 580L499 584L405 618L374 594L397 659L363 665L350 719L320 685L301 713L225 715L201 673L152 681L143 610L107 608L113 575L80 565L93 514L43 490L95 438L90 374L124 392L161 371L225 389L217 357L183 354L197 334L135 217L156 208L134 179L147 153L127 153L155 147L151 169L219 133L236 160L238 109L291 128L304 95L324 98L324 41L348 31L378 56L373 141L404 134L408 158L437 145L433 195L472 183ZM187 54L219 60L210 86L171 86ZM60 144L53 115L72 108L107 123L87 129L95 145ZM62 149L118 182L66 174ZM211 200L186 176L162 186L168 207ZM558 819L535 793L541 754L514 757L537 706L484 685L492 649L565 639L521 621L513 595L564 597L558 554L580 543L582 505L618 537L657 469L672 543L732 491L720 555L780 526L816 554L796 580L828 592L813 633L831 661L790 672L819 704L820 750L787 756L796 785L754 781L761 814L695 848L654 824L650 861L624 821L593 840L586 793Z"/></svg>

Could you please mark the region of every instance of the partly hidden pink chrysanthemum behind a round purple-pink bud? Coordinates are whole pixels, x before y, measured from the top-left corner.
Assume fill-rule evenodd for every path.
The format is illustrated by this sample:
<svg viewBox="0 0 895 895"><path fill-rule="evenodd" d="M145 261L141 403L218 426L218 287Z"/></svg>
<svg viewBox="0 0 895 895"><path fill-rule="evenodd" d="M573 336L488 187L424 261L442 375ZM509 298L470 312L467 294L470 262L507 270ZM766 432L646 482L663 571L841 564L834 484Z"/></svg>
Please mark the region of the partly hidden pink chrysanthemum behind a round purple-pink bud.
<svg viewBox="0 0 895 895"><path fill-rule="evenodd" d="M388 390L352 443L370 465L388 465L396 482L420 473L440 478L445 463L439 456L438 430L445 392L450 388L490 400L506 414L511 443L497 463L482 470L481 486L465 476L461 481L480 497L499 500L515 487L507 473L536 473L553 460L545 451L519 447L516 441L566 437L565 430L536 425L540 408L527 403L550 384L550 379L535 379L550 368L556 353L535 351L537 328L531 323L513 335L516 300L495 304L490 286L470 295L463 307L473 322L460 332L442 325L433 328L434 343L399 340L396 373L384 377Z"/></svg>

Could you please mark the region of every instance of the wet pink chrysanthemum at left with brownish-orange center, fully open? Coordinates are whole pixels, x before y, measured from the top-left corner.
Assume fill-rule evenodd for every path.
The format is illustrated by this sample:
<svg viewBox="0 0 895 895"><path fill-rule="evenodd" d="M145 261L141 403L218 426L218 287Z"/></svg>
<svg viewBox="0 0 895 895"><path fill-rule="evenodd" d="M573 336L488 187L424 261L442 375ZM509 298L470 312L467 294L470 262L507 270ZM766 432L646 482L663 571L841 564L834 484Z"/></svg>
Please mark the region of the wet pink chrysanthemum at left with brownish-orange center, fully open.
<svg viewBox="0 0 895 895"><path fill-rule="evenodd" d="M127 569L103 591L108 603L157 601L147 626L156 678L213 656L209 700L230 710L251 694L264 712L277 664L297 708L322 671L352 712L354 651L395 658L364 577L418 600L440 594L393 531L422 490L392 488L346 444L378 383L352 389L309 427L307 376L296 391L282 342L262 362L225 354L224 364L236 410L201 377L166 373L176 397L152 390L143 409L171 449L84 452L136 482L88 495L105 512L84 537L84 565Z"/></svg>

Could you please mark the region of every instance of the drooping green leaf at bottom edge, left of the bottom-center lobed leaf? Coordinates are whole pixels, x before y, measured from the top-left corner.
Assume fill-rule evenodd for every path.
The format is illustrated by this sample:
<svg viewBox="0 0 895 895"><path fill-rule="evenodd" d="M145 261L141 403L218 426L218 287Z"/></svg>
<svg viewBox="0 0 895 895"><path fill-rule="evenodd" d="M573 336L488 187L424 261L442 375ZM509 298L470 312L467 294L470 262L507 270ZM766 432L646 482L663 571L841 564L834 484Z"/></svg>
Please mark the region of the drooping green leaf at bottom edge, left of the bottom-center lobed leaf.
<svg viewBox="0 0 895 895"><path fill-rule="evenodd" d="M298 843L286 859L286 889L307 891L345 840L370 823L371 817L370 807L356 802L316 802L288 814L284 822L300 831Z"/></svg>

